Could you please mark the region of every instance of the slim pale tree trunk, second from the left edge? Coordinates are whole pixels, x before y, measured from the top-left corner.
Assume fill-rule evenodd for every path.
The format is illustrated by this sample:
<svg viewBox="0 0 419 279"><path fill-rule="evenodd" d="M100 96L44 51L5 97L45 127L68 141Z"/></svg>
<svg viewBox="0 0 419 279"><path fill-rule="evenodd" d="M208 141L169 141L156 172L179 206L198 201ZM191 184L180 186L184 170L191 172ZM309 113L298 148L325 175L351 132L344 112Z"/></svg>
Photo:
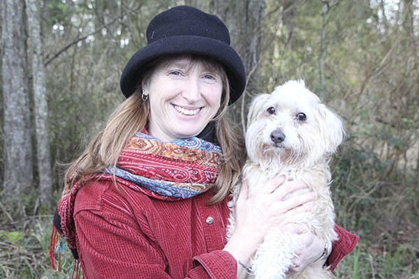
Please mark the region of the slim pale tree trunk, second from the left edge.
<svg viewBox="0 0 419 279"><path fill-rule="evenodd" d="M38 159L39 199L50 208L52 202L52 175L50 143L48 141L48 107L45 94L45 67L39 20L38 1L26 0L29 29L29 55L32 58L34 88L34 118L36 127L36 155Z"/></svg>

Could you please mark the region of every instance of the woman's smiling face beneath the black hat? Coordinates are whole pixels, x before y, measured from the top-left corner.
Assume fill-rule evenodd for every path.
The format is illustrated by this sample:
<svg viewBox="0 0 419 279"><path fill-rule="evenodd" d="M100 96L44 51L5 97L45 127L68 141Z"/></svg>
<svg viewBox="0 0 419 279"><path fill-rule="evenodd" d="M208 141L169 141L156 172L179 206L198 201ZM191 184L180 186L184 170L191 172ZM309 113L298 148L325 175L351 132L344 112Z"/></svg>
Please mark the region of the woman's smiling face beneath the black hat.
<svg viewBox="0 0 419 279"><path fill-rule="evenodd" d="M223 81L221 73L189 57L159 63L142 82L149 96L150 135L163 141L198 135L218 112Z"/></svg>

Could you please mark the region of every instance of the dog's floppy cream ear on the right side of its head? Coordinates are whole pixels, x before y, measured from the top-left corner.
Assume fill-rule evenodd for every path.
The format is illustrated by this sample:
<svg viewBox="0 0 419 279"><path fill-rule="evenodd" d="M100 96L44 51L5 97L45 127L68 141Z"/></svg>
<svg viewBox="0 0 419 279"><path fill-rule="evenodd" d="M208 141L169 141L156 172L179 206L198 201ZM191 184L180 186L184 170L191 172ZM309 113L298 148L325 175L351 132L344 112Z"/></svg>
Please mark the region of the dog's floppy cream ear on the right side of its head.
<svg viewBox="0 0 419 279"><path fill-rule="evenodd" d="M325 152L328 156L337 151L337 147L345 138L344 124L339 115L332 112L322 103L318 105L318 123L325 141Z"/></svg>

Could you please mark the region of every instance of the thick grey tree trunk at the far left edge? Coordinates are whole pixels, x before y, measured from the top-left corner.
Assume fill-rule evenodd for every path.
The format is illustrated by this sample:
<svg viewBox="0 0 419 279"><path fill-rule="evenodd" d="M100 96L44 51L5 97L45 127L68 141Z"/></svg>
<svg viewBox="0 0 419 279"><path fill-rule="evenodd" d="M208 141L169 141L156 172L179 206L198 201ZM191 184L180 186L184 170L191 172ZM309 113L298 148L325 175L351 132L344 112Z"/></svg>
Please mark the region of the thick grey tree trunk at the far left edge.
<svg viewBox="0 0 419 279"><path fill-rule="evenodd" d="M24 5L2 0L3 133L5 197L20 197L32 185L32 145L27 86Z"/></svg>

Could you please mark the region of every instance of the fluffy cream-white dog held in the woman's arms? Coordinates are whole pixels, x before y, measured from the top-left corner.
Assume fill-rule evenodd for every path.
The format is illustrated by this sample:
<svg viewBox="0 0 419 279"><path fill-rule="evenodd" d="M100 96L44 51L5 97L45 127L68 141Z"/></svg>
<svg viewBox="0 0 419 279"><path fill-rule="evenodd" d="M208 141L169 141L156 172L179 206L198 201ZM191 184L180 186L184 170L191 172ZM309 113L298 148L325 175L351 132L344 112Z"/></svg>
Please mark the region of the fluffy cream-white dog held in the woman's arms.
<svg viewBox="0 0 419 279"><path fill-rule="evenodd" d="M300 113L307 119L299 119ZM301 220L293 218L290 222L306 224L331 245L337 234L334 231L335 212L330 197L328 161L344 140L339 116L325 107L304 82L289 81L271 94L257 96L249 108L247 123L248 158L242 176L249 183L249 195L279 174L284 174L289 180L304 181L316 193L313 210ZM283 141L271 139L275 130L283 133ZM239 190L240 185L233 189L233 200L229 204L228 238L234 231L234 204ZM280 228L272 229L251 261L252 275L249 278L332 278L330 271L320 264L309 264L299 275L286 276L292 264L291 258L303 248L293 234L282 232Z"/></svg>

